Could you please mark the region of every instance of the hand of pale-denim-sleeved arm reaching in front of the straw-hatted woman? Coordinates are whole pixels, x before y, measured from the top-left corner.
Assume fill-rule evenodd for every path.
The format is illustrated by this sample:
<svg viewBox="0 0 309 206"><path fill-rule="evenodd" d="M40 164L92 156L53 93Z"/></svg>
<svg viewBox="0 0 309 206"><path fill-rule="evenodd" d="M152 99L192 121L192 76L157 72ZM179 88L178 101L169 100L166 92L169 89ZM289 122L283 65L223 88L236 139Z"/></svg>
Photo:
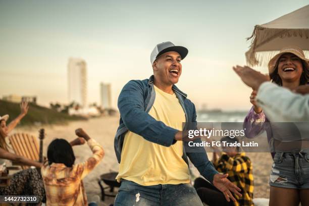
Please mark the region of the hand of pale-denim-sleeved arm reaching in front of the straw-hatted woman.
<svg viewBox="0 0 309 206"><path fill-rule="evenodd" d="M266 81L269 81L269 76L261 74L250 67L236 66L233 70L238 74L243 83L251 87L253 90L258 90L260 85Z"/></svg>

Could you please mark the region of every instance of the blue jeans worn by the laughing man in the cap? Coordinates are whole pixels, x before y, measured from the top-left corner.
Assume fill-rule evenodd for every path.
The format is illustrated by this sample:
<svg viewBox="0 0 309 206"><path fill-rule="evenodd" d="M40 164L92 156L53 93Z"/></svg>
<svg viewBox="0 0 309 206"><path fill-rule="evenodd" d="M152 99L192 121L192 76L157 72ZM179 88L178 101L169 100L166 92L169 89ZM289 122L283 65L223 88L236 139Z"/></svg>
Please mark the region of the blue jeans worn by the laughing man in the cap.
<svg viewBox="0 0 309 206"><path fill-rule="evenodd" d="M194 187L190 184L159 184L142 186L121 180L115 206L202 206Z"/></svg>

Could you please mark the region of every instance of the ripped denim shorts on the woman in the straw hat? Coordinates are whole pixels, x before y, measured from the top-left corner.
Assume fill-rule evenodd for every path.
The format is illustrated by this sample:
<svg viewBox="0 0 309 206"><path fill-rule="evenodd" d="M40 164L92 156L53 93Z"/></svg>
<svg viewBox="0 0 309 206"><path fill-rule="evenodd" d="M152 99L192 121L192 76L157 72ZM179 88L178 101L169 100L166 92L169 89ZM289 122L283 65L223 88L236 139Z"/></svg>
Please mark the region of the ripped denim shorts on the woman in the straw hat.
<svg viewBox="0 0 309 206"><path fill-rule="evenodd" d="M276 152L269 179L275 187L309 188L309 153Z"/></svg>

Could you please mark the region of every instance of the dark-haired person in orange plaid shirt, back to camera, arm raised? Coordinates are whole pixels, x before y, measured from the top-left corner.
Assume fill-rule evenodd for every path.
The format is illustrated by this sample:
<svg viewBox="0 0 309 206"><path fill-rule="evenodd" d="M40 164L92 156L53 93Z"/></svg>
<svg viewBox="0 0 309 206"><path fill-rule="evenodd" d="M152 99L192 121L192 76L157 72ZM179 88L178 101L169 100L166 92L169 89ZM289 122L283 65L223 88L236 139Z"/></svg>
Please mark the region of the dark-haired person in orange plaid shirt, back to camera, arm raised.
<svg viewBox="0 0 309 206"><path fill-rule="evenodd" d="M82 179L98 165L104 156L104 150L82 129L75 130L75 133L87 141L93 155L86 162L74 165L72 143L65 139L55 139L49 144L48 161L41 168L46 205L87 205Z"/></svg>

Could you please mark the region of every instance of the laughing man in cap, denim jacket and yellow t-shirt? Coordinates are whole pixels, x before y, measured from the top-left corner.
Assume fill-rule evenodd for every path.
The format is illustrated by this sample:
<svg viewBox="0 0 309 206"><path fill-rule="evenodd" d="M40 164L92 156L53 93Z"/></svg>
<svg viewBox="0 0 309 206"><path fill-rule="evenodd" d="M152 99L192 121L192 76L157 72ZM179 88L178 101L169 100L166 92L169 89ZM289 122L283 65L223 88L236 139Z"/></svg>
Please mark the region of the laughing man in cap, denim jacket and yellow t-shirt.
<svg viewBox="0 0 309 206"><path fill-rule="evenodd" d="M204 148L187 152L182 131L196 128L196 111L175 84L188 49L163 42L152 50L153 75L131 80L118 98L120 125L115 151L121 182L115 205L202 205L190 182L188 159L200 174L235 201L240 189L219 174ZM184 123L184 128L183 128ZM200 139L195 139L201 142Z"/></svg>

